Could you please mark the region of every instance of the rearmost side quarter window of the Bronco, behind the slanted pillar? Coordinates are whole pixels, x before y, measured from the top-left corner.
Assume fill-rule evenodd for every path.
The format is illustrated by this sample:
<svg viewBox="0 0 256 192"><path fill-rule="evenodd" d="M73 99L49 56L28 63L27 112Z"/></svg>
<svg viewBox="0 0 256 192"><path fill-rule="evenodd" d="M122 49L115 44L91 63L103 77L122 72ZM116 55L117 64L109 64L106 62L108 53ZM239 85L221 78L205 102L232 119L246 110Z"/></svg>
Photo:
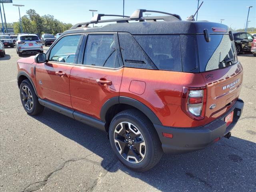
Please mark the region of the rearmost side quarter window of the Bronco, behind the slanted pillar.
<svg viewBox="0 0 256 192"><path fill-rule="evenodd" d="M182 71L179 35L135 35L159 70Z"/></svg>

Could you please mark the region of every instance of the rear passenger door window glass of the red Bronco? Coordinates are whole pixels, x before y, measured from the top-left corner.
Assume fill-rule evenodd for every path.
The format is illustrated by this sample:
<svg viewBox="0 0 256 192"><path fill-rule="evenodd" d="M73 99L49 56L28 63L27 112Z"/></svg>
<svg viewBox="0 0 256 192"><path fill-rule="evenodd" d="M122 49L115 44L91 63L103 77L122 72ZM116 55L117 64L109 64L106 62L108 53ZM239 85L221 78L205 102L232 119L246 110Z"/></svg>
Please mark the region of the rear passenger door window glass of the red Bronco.
<svg viewBox="0 0 256 192"><path fill-rule="evenodd" d="M84 65L118 68L116 42L113 34L88 35Z"/></svg>

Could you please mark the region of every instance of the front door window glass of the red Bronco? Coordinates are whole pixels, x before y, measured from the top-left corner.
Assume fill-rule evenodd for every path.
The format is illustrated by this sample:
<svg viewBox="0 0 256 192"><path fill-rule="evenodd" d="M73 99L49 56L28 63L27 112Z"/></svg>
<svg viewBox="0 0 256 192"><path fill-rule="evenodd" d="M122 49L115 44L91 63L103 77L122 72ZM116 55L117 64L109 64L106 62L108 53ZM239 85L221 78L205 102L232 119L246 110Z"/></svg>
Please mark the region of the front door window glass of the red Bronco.
<svg viewBox="0 0 256 192"><path fill-rule="evenodd" d="M61 38L50 52L50 61L73 63L81 35L70 35Z"/></svg>

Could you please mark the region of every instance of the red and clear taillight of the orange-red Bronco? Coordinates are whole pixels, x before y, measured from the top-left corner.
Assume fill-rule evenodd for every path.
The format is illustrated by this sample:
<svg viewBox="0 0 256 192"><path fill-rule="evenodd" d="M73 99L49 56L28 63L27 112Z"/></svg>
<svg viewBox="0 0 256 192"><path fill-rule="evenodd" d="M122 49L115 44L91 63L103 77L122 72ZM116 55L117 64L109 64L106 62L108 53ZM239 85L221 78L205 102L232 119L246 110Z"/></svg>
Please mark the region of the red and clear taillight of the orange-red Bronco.
<svg viewBox="0 0 256 192"><path fill-rule="evenodd" d="M205 115L206 87L184 87L182 91L182 110L194 120L202 120Z"/></svg>

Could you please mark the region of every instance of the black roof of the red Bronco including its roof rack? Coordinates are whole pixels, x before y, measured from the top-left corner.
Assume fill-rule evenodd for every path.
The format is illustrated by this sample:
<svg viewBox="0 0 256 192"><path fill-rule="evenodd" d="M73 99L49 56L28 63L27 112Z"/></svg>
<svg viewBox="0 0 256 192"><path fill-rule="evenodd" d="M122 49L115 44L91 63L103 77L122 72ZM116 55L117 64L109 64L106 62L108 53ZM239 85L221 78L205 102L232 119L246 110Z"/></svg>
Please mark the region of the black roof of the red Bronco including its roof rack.
<svg viewBox="0 0 256 192"><path fill-rule="evenodd" d="M168 16L143 17L143 12L158 12L167 14ZM225 33L213 32L212 28L224 28L228 32L228 26L224 24L208 21L181 20L180 16L176 14L159 11L136 10L130 17L125 16L125 18L117 18L112 20L100 20L102 16L112 15L96 14L90 22L75 24L72 26L72 28L70 28L70 30L62 33L62 36L65 34L81 32L129 32L130 34L203 34L204 29L207 29L209 33L214 34ZM116 23L107 24L102 27L88 27L89 24L100 24L103 22Z"/></svg>

